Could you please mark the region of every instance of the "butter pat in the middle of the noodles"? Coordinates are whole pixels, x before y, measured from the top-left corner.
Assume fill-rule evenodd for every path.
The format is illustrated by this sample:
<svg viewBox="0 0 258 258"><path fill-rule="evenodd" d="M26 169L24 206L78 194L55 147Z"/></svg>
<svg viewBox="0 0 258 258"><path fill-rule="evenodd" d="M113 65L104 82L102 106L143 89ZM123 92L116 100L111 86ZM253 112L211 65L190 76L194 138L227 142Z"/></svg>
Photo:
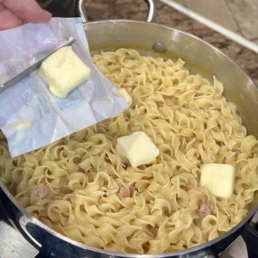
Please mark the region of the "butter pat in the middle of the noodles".
<svg viewBox="0 0 258 258"><path fill-rule="evenodd" d="M141 131L118 138L116 149L118 155L126 157L133 167L149 164L159 155L159 149Z"/></svg>

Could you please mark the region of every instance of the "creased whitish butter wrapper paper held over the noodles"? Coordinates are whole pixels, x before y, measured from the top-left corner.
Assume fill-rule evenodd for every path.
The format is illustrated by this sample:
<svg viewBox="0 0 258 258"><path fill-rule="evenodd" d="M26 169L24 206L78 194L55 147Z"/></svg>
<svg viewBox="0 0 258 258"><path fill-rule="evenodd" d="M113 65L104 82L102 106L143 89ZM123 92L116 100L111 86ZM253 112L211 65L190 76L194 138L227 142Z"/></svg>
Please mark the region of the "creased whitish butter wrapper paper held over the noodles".
<svg viewBox="0 0 258 258"><path fill-rule="evenodd" d="M65 99L34 72L0 94L0 128L12 157L53 143L128 109L125 98L94 65L80 18L52 18L0 31L0 85L74 37L90 77Z"/></svg>

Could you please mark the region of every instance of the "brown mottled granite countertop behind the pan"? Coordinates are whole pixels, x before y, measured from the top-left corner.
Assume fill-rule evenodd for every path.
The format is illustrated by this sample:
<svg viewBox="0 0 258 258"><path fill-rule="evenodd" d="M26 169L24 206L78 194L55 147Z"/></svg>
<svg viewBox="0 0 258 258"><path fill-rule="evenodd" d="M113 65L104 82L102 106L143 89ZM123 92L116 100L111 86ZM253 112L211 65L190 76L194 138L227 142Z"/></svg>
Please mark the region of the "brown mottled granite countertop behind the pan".
<svg viewBox="0 0 258 258"><path fill-rule="evenodd" d="M156 4L155 22L189 32L218 47L258 85L258 54L158 0ZM87 0L86 10L93 19L146 20L148 6L143 0Z"/></svg>

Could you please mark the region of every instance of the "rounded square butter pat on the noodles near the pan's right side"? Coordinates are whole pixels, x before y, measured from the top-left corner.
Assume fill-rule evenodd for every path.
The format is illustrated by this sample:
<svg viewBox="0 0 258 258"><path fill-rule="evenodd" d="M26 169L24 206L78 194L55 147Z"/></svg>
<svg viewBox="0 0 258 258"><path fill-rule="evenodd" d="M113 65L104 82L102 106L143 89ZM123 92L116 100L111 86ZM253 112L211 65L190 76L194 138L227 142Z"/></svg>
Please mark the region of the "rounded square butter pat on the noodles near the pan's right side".
<svg viewBox="0 0 258 258"><path fill-rule="evenodd" d="M201 167L201 186L216 197L229 198L234 191L235 173L232 165L207 163Z"/></svg>

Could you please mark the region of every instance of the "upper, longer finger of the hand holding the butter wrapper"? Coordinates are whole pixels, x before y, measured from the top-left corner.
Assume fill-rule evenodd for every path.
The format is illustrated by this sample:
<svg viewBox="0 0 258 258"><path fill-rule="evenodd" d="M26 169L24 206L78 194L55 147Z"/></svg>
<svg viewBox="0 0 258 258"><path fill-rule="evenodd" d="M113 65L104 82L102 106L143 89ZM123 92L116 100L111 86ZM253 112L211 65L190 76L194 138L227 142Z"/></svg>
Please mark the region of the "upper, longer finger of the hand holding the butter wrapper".
<svg viewBox="0 0 258 258"><path fill-rule="evenodd" d="M0 0L7 9L25 22L49 22L52 14L43 10L35 0Z"/></svg>

